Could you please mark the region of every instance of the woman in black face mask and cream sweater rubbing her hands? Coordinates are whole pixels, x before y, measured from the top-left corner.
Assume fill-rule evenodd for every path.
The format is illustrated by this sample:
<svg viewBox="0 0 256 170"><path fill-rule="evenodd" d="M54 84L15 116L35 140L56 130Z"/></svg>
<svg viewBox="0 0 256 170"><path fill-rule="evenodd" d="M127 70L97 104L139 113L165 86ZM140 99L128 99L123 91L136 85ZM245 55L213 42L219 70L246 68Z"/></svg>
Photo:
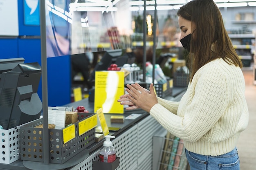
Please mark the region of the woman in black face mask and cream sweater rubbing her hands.
<svg viewBox="0 0 256 170"><path fill-rule="evenodd" d="M180 102L127 85L118 102L150 113L183 139L191 170L239 170L236 143L248 124L242 63L213 0L192 0L178 12L180 42L189 53L191 79Z"/></svg>

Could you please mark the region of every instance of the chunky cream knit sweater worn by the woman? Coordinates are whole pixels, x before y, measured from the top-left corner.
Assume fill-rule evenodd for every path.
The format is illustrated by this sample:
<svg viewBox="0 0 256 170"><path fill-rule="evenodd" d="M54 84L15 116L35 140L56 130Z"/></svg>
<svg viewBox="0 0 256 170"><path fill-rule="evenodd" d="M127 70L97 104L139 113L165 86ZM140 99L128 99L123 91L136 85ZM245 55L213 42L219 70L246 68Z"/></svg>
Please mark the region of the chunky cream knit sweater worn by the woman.
<svg viewBox="0 0 256 170"><path fill-rule="evenodd" d="M243 73L223 59L202 66L180 102L157 99L150 115L194 153L230 152L248 125Z"/></svg>

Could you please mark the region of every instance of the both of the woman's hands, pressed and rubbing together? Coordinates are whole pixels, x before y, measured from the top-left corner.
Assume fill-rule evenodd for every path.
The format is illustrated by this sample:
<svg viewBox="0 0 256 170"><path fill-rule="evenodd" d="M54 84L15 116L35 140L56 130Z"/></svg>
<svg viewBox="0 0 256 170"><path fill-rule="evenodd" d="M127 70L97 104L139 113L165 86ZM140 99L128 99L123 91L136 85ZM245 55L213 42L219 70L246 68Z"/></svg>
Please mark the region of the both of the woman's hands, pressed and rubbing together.
<svg viewBox="0 0 256 170"><path fill-rule="evenodd" d="M126 92L128 94L122 95L118 102L123 105L132 105L127 110L132 110L135 108L141 108L147 112L157 104L157 96L154 91L153 83L150 84L148 91L146 88L141 87L139 84L127 84Z"/></svg>

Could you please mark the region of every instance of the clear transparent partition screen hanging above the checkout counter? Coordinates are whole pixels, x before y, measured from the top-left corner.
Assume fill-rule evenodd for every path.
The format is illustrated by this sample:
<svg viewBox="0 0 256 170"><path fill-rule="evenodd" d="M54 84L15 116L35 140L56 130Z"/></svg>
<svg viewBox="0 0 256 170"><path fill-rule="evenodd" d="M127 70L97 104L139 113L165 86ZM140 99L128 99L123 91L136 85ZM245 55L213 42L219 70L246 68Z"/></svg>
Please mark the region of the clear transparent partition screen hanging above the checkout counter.
<svg viewBox="0 0 256 170"><path fill-rule="evenodd" d="M185 1L146 1L146 46L179 46L177 9ZM47 0L47 57L143 46L143 0ZM154 26L154 20L157 20ZM153 30L156 29L156 35Z"/></svg>

